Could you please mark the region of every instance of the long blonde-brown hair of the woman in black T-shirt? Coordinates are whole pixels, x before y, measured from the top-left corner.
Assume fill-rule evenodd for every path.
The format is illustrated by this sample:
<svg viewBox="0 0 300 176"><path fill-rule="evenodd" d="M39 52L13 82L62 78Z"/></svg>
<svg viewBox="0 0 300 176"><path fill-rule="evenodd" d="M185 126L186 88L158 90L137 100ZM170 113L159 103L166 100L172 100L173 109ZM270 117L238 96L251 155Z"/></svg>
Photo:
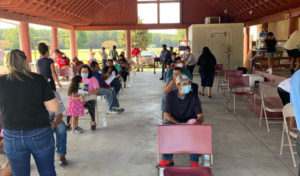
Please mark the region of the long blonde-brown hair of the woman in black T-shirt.
<svg viewBox="0 0 300 176"><path fill-rule="evenodd" d="M20 77L21 75L26 75L32 78L29 74L31 70L29 69L29 65L26 61L27 57L23 51L14 49L7 54L6 59L9 67L7 74L8 80L13 81L17 78L18 80L23 81Z"/></svg>

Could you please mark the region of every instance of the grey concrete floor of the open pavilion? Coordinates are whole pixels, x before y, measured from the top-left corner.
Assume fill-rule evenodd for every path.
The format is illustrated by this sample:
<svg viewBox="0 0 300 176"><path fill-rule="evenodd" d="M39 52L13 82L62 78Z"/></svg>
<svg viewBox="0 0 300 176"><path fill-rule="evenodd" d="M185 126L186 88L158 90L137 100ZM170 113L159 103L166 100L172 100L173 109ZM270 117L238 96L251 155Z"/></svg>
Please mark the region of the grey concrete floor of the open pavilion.
<svg viewBox="0 0 300 176"><path fill-rule="evenodd" d="M137 73L130 88L120 93L123 114L108 115L107 127L100 122L96 131L89 127L90 117L80 117L82 134L68 132L69 165L60 167L55 160L57 175L74 176L153 176L157 175L157 125L161 116L162 82L160 72ZM194 82L200 82L199 75ZM200 85L200 84L199 84ZM67 105L67 85L60 92ZM200 97L205 124L213 127L213 171L218 176L291 176L296 175L289 148L279 155L281 124L265 123L246 109L238 98L236 115L226 113L226 101L213 89L213 98ZM98 100L100 114L104 101ZM230 104L232 105L232 104ZM232 107L232 106L231 106ZM102 119L100 118L100 121ZM295 140L293 140L295 142ZM298 163L298 156L295 156ZM189 166L186 154L175 155L175 165ZM38 175L32 160L32 175Z"/></svg>

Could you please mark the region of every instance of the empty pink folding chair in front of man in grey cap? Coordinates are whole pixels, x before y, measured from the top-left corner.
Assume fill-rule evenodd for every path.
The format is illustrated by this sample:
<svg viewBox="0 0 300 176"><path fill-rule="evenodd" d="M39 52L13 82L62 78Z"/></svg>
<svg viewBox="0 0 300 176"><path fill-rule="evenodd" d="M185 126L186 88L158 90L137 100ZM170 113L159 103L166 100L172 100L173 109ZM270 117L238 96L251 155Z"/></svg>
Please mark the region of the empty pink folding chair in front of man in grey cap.
<svg viewBox="0 0 300 176"><path fill-rule="evenodd" d="M159 154L188 153L212 156L212 128L210 125L159 125L158 133L158 162ZM201 135L199 135L201 134ZM212 157L211 157L212 158ZM213 176L210 167L167 167L165 176Z"/></svg>

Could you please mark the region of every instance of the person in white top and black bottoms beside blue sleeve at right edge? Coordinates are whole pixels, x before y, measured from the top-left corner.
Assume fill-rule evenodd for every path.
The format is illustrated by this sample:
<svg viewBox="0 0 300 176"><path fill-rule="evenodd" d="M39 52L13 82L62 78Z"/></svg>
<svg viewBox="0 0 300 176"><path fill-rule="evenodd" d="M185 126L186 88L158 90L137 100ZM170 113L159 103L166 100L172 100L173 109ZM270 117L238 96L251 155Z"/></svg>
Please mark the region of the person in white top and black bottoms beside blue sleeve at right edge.
<svg viewBox="0 0 300 176"><path fill-rule="evenodd" d="M281 98L283 106L289 104L291 102L290 99L291 78L282 81L278 85L277 91ZM290 117L290 128L295 128L295 127L297 127L295 117Z"/></svg>

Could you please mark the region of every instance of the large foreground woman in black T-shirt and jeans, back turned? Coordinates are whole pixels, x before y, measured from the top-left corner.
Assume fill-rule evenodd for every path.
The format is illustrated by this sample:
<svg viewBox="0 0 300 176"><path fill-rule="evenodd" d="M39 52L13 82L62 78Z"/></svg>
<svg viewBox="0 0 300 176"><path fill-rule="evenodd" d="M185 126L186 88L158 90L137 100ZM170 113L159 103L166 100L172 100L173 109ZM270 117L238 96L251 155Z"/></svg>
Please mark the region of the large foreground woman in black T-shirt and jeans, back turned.
<svg viewBox="0 0 300 176"><path fill-rule="evenodd" d="M45 77L30 71L24 52L12 50L7 64L8 74L0 77L0 111L13 175L30 176L31 155L40 175L56 175L49 112L57 112L59 102Z"/></svg>

